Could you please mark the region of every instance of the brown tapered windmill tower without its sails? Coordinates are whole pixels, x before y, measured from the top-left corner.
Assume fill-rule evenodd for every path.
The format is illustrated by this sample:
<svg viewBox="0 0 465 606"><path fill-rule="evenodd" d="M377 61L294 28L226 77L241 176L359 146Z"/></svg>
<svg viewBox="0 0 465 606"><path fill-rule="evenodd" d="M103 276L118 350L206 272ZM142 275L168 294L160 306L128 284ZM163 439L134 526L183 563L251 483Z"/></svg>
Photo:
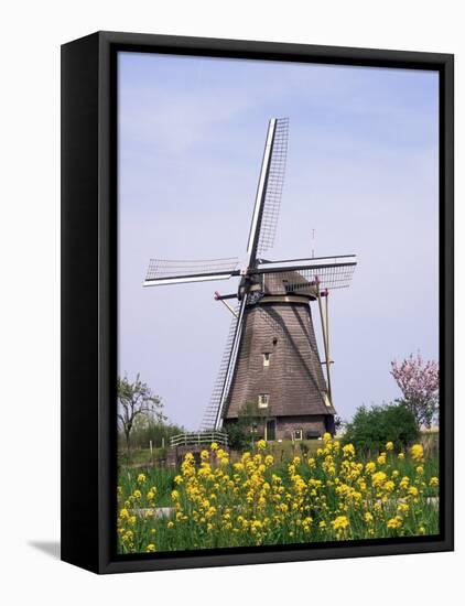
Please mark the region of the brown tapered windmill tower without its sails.
<svg viewBox="0 0 465 606"><path fill-rule="evenodd" d="M246 307L224 424L257 407L257 431L267 440L316 437L333 432L335 410L312 321L315 295L288 294L275 278Z"/></svg>

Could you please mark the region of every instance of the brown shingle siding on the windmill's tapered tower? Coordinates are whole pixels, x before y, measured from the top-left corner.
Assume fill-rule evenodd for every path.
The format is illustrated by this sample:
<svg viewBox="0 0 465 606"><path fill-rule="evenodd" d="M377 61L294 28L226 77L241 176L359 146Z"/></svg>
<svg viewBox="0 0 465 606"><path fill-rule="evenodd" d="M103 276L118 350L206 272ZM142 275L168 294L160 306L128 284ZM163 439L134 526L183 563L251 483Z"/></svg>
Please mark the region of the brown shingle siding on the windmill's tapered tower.
<svg viewBox="0 0 465 606"><path fill-rule="evenodd" d="M324 401L327 388L310 304L279 299L267 302L264 296L246 309L224 416L237 419L242 407L257 403L259 394L268 393L269 418L317 415L320 428L324 425L322 419L335 411ZM269 366L263 366L263 353L271 354Z"/></svg>

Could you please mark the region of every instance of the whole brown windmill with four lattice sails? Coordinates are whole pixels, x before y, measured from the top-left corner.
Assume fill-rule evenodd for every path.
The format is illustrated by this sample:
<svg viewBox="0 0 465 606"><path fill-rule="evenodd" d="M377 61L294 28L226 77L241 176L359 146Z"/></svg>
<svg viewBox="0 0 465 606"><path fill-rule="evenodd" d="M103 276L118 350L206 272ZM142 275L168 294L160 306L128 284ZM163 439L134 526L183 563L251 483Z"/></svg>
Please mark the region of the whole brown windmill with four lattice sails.
<svg viewBox="0 0 465 606"><path fill-rule="evenodd" d="M236 257L151 259L149 263L144 286L239 278L236 293L215 293L231 311L233 320L201 428L205 431L237 421L249 404L259 409L260 431L269 440L316 437L334 431L328 294L349 285L357 260L354 255L279 261L263 258L274 244L288 137L288 118L269 121L242 267ZM235 307L227 303L231 299L237 299ZM314 301L321 317L323 361L310 305Z"/></svg>

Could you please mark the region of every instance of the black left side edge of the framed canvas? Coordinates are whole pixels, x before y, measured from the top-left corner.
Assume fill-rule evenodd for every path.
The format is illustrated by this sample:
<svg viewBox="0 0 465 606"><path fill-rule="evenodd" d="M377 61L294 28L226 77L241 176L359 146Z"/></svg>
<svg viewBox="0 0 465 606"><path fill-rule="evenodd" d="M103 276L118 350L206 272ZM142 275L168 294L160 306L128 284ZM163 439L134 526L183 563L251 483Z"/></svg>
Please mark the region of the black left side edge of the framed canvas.
<svg viewBox="0 0 465 606"><path fill-rule="evenodd" d="M101 521L96 419L98 45L99 35L93 34L61 48L61 559L94 572L99 567Z"/></svg>

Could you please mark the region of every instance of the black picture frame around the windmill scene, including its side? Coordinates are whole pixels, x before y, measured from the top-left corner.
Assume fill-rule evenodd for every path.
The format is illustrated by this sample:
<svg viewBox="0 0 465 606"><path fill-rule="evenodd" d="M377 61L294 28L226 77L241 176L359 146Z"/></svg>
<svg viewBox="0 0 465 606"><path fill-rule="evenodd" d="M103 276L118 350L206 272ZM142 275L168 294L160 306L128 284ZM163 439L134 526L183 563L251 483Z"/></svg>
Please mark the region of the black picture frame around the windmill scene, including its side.
<svg viewBox="0 0 465 606"><path fill-rule="evenodd" d="M440 76L437 537L170 554L116 553L118 51L436 71ZM454 57L97 32L62 46L62 560L96 573L451 551L454 545Z"/></svg>

